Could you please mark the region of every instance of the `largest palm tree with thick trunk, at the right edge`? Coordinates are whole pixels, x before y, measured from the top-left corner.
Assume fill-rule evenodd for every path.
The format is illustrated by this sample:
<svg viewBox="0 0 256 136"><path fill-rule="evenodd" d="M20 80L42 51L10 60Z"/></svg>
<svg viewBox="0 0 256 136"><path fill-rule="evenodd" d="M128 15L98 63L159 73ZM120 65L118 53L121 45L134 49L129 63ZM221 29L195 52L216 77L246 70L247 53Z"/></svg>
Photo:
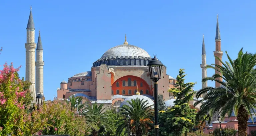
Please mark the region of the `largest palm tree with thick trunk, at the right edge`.
<svg viewBox="0 0 256 136"><path fill-rule="evenodd" d="M227 54L227 51L226 51ZM223 66L207 66L219 71L222 75L214 74L212 77L202 79L202 82L211 80L220 83L220 87L206 87L199 90L196 97L206 93L201 101L202 103L197 119L203 119L204 115L211 118L213 114L218 113L223 119L225 115L231 116L234 111L238 120L238 136L247 135L247 120L250 111L255 109L256 104L256 54L243 53L243 48L239 51L236 60L232 60L227 54L229 62L223 63L216 57ZM216 78L222 78L225 81L219 81ZM254 113L255 114L255 113ZM251 117L252 118L252 117Z"/></svg>

